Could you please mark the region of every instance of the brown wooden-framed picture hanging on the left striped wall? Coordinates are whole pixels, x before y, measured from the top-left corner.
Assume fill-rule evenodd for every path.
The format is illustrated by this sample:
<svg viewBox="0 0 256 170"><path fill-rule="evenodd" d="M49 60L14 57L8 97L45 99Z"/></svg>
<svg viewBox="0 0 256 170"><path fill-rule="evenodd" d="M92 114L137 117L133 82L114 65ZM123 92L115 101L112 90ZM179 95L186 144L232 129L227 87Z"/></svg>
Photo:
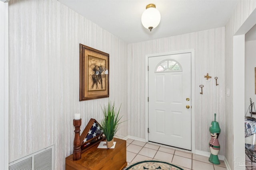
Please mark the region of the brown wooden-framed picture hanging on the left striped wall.
<svg viewBox="0 0 256 170"><path fill-rule="evenodd" d="M109 54L80 44L79 101L109 97Z"/></svg>

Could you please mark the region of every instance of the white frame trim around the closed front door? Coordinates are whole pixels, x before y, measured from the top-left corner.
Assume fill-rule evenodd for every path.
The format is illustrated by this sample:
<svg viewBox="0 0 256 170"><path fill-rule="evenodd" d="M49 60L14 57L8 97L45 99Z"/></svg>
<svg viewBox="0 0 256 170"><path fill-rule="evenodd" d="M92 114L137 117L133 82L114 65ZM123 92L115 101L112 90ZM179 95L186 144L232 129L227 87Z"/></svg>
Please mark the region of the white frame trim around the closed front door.
<svg viewBox="0 0 256 170"><path fill-rule="evenodd" d="M163 55L191 53L191 152L195 153L195 50L171 51L166 53L149 54L145 57L145 137L148 142L148 58Z"/></svg>

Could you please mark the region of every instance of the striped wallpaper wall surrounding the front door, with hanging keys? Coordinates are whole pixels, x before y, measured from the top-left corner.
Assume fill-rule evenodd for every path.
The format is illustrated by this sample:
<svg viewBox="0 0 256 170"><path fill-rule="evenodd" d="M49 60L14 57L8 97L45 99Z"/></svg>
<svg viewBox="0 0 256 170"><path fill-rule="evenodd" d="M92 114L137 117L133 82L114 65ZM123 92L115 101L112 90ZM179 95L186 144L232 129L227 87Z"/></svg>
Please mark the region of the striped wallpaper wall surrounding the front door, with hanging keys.
<svg viewBox="0 0 256 170"><path fill-rule="evenodd" d="M225 113L224 113L224 27L166 37L152 41L132 43L128 45L129 60L129 135L145 138L145 57L148 54L164 53L195 49L195 149L209 152L209 126L217 113L216 121L220 123L219 137L220 155L225 154ZM204 76L212 76L206 82ZM214 77L218 77L219 86ZM204 93L200 94L199 85L204 85ZM137 130L140 129L140 130Z"/></svg>

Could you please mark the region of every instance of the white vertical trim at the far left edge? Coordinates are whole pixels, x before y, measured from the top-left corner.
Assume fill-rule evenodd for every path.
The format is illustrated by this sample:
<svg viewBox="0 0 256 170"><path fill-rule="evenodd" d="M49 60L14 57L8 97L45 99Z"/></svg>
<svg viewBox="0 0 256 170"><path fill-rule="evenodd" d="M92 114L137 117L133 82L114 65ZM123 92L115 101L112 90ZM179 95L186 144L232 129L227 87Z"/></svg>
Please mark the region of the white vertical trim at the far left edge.
<svg viewBox="0 0 256 170"><path fill-rule="evenodd" d="M0 2L0 169L9 165L9 7Z"/></svg>

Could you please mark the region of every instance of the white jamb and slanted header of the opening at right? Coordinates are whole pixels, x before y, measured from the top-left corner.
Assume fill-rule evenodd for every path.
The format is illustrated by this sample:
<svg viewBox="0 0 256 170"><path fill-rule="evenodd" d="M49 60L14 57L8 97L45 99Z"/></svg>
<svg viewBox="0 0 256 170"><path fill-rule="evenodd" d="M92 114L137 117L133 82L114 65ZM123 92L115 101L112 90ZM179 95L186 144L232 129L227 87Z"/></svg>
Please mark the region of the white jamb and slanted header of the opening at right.
<svg viewBox="0 0 256 170"><path fill-rule="evenodd" d="M232 63L232 85L233 85L233 166L234 170L245 168L244 150L244 59L245 59L245 34L256 24L256 9L248 16L244 23L233 35L233 63ZM237 68L239 66L239 71ZM225 85L225 88L230 88ZM231 87L232 88L232 87ZM231 95L232 96L232 95ZM234 126L235 125L235 126ZM235 148L235 149L234 149ZM242 162L236 162L240 158Z"/></svg>

